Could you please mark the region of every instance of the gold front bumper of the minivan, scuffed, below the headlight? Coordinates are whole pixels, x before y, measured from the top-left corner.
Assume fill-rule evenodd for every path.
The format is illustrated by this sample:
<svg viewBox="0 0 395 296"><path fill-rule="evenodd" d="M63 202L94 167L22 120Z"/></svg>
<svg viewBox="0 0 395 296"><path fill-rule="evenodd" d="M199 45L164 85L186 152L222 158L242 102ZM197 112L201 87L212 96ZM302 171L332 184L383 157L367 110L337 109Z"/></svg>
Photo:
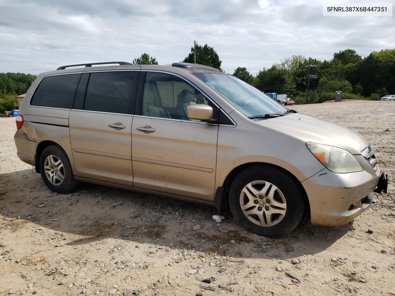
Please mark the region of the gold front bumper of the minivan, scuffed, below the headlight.
<svg viewBox="0 0 395 296"><path fill-rule="evenodd" d="M387 192L386 173L369 165L363 171L337 174L324 169L302 182L310 203L313 225L341 226L367 210L372 192Z"/></svg>

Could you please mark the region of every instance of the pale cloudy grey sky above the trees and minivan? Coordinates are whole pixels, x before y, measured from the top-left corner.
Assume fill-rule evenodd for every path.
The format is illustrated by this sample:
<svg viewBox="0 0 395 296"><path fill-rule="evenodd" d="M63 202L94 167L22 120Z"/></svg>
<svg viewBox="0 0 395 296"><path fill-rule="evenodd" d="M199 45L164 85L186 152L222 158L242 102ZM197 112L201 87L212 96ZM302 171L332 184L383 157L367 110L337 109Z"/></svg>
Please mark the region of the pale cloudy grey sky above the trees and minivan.
<svg viewBox="0 0 395 296"><path fill-rule="evenodd" d="M143 52L171 64L194 40L213 46L229 73L253 74L293 54L395 48L395 0L348 2L393 3L393 16L324 17L322 0L0 0L0 72L132 62Z"/></svg>

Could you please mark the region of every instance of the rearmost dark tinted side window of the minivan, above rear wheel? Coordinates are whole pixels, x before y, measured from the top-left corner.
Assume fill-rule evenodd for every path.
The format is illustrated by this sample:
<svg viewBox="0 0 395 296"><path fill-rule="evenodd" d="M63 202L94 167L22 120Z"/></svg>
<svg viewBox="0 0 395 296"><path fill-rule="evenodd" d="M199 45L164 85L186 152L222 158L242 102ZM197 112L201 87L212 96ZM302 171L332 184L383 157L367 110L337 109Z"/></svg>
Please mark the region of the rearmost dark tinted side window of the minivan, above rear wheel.
<svg viewBox="0 0 395 296"><path fill-rule="evenodd" d="M30 101L32 106L71 109L81 73L47 76Z"/></svg>

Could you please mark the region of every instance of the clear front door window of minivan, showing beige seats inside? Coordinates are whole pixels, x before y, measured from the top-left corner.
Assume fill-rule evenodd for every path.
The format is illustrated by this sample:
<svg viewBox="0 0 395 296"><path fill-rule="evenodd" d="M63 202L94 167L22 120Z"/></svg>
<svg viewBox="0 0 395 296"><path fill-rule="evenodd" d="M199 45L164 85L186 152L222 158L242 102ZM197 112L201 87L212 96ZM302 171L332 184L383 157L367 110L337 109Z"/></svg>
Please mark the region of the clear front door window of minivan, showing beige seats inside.
<svg viewBox="0 0 395 296"><path fill-rule="evenodd" d="M198 89L180 77L147 72L143 90L143 116L199 121L188 118L187 107L194 104L212 105Z"/></svg>

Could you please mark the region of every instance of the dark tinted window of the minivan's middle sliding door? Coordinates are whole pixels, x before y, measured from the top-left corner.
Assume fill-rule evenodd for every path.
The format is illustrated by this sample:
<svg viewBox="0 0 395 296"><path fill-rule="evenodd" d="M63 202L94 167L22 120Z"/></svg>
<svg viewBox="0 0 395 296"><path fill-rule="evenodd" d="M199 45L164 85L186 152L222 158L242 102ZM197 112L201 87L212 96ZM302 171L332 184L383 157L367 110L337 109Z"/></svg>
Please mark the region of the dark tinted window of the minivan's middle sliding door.
<svg viewBox="0 0 395 296"><path fill-rule="evenodd" d="M129 113L135 71L91 73L84 110Z"/></svg>

